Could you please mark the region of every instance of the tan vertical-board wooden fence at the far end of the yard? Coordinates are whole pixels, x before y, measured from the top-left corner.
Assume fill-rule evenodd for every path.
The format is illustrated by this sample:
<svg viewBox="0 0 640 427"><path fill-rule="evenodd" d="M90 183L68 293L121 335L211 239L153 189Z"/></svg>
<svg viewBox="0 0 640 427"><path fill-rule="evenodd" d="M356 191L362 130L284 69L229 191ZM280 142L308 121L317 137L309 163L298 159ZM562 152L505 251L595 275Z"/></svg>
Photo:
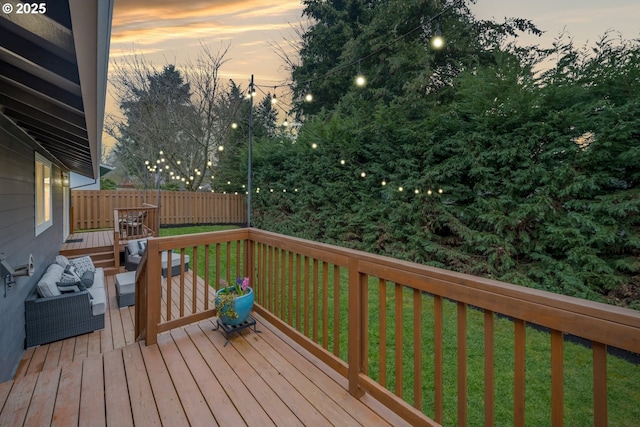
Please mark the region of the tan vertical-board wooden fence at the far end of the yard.
<svg viewBox="0 0 640 427"><path fill-rule="evenodd" d="M244 195L155 190L72 190L73 230L113 228L114 209L159 206L161 225L242 224Z"/></svg>

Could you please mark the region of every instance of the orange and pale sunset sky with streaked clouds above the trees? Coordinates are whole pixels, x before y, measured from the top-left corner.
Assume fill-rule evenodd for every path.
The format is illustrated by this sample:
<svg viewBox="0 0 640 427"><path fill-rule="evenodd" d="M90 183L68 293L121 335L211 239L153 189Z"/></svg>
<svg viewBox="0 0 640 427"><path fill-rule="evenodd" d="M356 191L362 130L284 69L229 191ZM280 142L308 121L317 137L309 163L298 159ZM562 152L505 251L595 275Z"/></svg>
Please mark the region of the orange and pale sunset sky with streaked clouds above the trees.
<svg viewBox="0 0 640 427"><path fill-rule="evenodd" d="M471 8L481 19L532 20L546 34L530 42L544 47L563 30L576 46L592 43L607 30L640 38L638 0L478 0ZM157 67L180 66L195 59L201 44L213 51L228 44L223 78L246 87L254 74L257 84L275 86L288 73L273 46L290 49L284 40L294 39L294 28L307 25L302 9L299 0L116 0L111 60L135 51ZM294 50L290 53L295 56ZM115 112L115 100L108 96L107 102L107 111ZM104 144L111 144L107 137Z"/></svg>

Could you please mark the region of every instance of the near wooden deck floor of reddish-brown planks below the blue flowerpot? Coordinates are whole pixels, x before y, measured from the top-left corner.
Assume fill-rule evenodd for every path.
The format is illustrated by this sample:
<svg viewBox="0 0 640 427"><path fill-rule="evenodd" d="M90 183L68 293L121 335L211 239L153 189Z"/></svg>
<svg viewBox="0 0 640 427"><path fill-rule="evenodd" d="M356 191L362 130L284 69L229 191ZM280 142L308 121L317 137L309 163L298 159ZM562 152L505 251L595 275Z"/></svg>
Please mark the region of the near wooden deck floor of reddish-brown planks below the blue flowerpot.
<svg viewBox="0 0 640 427"><path fill-rule="evenodd" d="M406 425L259 316L227 346L215 319L135 343L134 308L106 281L105 329L27 350L0 384L0 426Z"/></svg>

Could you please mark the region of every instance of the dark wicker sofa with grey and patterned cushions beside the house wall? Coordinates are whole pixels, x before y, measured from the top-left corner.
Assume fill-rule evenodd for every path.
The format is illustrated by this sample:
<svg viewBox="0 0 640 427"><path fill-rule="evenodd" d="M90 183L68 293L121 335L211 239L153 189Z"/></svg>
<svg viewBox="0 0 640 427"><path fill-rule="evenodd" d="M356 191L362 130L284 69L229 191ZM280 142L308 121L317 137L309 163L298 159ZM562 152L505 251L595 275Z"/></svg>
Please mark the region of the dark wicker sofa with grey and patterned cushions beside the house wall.
<svg viewBox="0 0 640 427"><path fill-rule="evenodd" d="M47 268L38 285L25 300L25 348L104 328L104 270L92 268L91 264L91 267L87 267L93 271L93 283L90 287L78 285L77 290L63 293L60 288L64 286L63 289L67 290L68 283L72 283L61 282L66 274L65 267L60 265L64 263L63 258L56 258L57 262ZM89 257L83 258L86 262ZM67 260L69 263L73 261Z"/></svg>

